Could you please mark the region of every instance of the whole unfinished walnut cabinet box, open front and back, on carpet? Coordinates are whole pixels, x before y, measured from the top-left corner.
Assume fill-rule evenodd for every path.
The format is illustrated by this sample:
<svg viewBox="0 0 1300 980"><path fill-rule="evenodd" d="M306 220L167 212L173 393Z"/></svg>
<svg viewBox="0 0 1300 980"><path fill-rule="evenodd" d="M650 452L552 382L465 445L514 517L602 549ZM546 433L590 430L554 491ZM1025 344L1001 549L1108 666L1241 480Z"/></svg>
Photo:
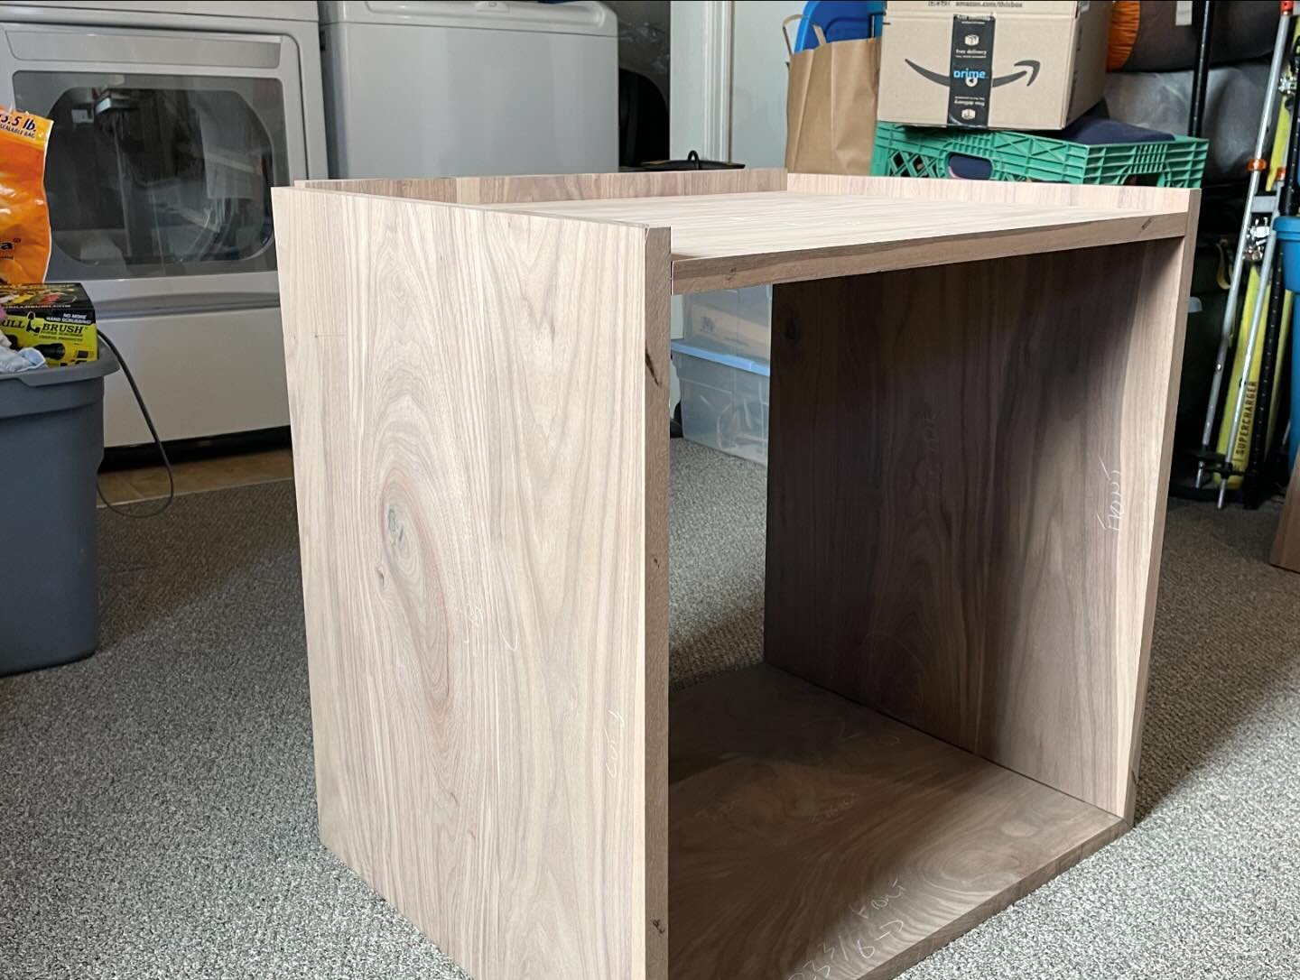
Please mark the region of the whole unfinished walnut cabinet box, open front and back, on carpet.
<svg viewBox="0 0 1300 980"><path fill-rule="evenodd" d="M1196 207L276 191L324 842L477 980L855 980L1114 838ZM670 296L768 282L766 663L670 698Z"/></svg>

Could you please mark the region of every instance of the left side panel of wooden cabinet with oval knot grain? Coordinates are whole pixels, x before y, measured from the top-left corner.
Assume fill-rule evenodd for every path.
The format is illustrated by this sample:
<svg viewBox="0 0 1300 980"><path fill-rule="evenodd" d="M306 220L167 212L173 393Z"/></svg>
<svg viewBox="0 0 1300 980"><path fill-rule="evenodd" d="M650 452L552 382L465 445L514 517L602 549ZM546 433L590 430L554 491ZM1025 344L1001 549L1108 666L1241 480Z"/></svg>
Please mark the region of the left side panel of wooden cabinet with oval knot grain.
<svg viewBox="0 0 1300 980"><path fill-rule="evenodd" d="M276 229L321 838L477 980L662 980L667 234Z"/></svg>

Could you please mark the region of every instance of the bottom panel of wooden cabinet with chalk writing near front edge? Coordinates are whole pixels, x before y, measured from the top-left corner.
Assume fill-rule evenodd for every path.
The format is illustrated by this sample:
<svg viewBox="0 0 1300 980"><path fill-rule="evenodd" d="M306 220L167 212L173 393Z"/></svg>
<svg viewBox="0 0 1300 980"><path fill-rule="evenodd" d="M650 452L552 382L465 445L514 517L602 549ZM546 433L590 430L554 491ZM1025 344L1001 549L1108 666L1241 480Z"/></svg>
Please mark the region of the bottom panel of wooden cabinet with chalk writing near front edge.
<svg viewBox="0 0 1300 980"><path fill-rule="evenodd" d="M758 667L673 695L673 980L884 980L1123 821Z"/></svg>

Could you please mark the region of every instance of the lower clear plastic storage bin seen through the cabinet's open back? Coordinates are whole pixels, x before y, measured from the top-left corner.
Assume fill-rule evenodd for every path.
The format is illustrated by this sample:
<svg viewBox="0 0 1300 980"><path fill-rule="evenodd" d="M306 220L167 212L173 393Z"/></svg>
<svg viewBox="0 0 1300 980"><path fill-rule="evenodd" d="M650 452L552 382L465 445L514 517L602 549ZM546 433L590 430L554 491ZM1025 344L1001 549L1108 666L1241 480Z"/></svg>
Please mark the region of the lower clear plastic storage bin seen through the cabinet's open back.
<svg viewBox="0 0 1300 980"><path fill-rule="evenodd" d="M767 465L771 365L692 338L672 342L681 385L681 434Z"/></svg>

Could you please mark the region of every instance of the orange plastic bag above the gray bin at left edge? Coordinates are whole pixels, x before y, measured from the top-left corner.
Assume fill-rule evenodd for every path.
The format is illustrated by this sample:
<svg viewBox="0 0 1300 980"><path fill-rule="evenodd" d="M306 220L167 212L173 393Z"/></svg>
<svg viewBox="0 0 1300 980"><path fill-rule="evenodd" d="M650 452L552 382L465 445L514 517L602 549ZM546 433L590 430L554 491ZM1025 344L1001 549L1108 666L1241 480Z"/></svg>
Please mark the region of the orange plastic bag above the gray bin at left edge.
<svg viewBox="0 0 1300 980"><path fill-rule="evenodd" d="M46 281L46 147L53 123L0 105L0 282Z"/></svg>

